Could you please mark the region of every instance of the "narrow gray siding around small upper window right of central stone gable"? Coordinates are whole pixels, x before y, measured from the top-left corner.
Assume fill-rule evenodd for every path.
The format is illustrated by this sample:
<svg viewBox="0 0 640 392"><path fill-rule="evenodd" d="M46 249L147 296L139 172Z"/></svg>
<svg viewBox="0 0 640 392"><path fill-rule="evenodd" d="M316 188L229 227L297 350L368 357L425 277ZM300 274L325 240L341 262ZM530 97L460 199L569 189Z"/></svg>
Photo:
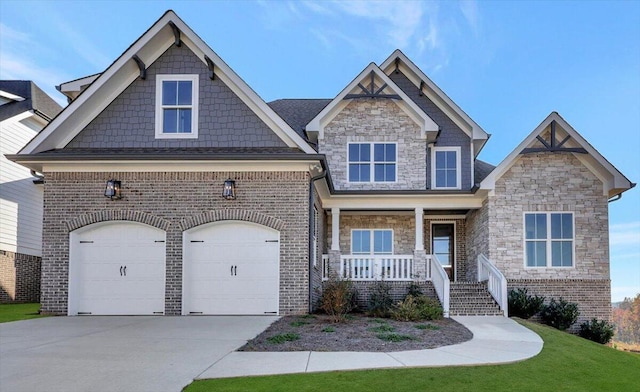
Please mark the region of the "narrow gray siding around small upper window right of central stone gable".
<svg viewBox="0 0 640 392"><path fill-rule="evenodd" d="M418 88L402 73L391 73L389 78L409 96L440 127L437 147L460 147L462 189L471 189L471 138L464 133L442 110L425 95L420 96ZM431 188L431 151L427 151L427 187Z"/></svg>

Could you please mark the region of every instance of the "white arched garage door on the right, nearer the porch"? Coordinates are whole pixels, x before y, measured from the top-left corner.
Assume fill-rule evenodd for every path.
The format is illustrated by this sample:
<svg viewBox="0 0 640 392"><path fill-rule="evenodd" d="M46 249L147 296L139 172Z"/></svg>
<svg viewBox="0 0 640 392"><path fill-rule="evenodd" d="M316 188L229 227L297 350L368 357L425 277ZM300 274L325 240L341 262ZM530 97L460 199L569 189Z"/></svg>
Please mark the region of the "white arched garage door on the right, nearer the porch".
<svg viewBox="0 0 640 392"><path fill-rule="evenodd" d="M242 221L184 234L183 314L277 314L280 234Z"/></svg>

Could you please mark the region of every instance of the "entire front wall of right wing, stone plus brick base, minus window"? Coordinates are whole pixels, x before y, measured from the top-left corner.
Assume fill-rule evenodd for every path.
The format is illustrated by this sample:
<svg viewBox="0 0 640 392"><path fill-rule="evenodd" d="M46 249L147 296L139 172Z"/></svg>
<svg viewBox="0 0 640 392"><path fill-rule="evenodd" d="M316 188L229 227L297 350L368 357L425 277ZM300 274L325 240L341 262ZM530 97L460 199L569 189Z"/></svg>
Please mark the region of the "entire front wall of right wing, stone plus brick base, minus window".
<svg viewBox="0 0 640 392"><path fill-rule="evenodd" d="M469 260L484 253L506 276L509 288L576 302L580 320L609 319L608 203L602 189L602 182L572 154L520 155L496 182L495 195L468 216ZM526 268L524 213L555 211L574 213L574 267ZM475 263L470 267L471 277Z"/></svg>

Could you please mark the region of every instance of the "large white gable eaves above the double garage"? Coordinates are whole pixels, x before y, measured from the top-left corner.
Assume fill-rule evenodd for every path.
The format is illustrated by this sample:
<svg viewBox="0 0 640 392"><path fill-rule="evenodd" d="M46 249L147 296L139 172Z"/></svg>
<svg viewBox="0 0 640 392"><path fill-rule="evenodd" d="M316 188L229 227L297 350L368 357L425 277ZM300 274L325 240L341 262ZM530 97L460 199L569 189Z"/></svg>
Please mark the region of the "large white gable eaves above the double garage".
<svg viewBox="0 0 640 392"><path fill-rule="evenodd" d="M177 36L176 36L177 35ZM178 41L179 40L179 41ZM213 63L215 77L226 84L288 147L315 153L182 19L169 10L120 55L19 154L63 148L140 76L134 56L143 64L155 62L171 45L186 45L205 64Z"/></svg>

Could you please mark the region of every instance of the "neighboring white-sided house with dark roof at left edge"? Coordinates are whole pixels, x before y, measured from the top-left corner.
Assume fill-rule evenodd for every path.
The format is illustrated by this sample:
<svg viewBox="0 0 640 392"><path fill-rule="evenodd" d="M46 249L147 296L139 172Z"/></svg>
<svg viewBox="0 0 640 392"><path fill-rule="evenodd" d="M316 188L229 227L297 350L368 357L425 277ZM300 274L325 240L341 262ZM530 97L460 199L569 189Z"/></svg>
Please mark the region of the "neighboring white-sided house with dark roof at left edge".
<svg viewBox="0 0 640 392"><path fill-rule="evenodd" d="M31 81L0 81L0 302L38 301L42 179L9 161L62 108Z"/></svg>

